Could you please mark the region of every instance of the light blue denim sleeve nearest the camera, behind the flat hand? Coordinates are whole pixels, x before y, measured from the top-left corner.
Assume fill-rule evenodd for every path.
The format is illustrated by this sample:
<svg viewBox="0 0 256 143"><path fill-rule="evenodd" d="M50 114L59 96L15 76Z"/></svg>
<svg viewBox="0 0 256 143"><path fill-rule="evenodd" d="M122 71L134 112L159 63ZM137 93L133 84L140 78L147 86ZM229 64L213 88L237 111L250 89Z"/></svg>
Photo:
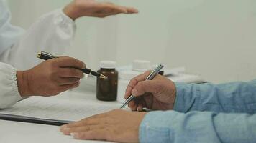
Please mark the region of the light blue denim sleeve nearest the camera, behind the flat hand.
<svg viewBox="0 0 256 143"><path fill-rule="evenodd" d="M256 142L256 114L149 112L140 142Z"/></svg>

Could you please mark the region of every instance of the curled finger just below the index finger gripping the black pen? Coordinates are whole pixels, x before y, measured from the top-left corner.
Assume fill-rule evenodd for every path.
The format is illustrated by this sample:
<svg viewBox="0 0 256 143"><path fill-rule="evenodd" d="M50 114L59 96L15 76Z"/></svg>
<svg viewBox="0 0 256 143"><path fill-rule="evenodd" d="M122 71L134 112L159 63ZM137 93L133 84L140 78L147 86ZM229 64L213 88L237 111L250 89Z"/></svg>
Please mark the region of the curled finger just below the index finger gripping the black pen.
<svg viewBox="0 0 256 143"><path fill-rule="evenodd" d="M74 68L60 68L60 77L83 78L83 71Z"/></svg>

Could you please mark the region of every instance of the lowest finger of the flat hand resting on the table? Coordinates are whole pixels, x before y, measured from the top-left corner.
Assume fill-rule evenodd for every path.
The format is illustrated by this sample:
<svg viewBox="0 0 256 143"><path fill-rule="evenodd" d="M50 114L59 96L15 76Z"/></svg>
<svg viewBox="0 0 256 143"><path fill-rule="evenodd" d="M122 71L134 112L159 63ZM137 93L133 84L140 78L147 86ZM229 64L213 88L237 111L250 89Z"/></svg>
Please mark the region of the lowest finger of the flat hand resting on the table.
<svg viewBox="0 0 256 143"><path fill-rule="evenodd" d="M106 140L107 129L93 129L88 132L75 132L71 133L75 139L87 139L87 140Z"/></svg>

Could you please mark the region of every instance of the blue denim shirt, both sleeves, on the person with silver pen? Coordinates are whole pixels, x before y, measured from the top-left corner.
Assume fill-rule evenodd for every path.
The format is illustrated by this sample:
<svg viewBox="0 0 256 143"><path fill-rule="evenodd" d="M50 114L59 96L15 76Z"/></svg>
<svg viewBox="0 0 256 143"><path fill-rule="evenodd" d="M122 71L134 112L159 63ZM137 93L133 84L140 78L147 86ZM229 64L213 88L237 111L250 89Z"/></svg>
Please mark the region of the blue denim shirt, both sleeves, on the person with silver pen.
<svg viewBox="0 0 256 143"><path fill-rule="evenodd" d="M256 142L256 80L175 86L173 111L149 112L140 142Z"/></svg>

